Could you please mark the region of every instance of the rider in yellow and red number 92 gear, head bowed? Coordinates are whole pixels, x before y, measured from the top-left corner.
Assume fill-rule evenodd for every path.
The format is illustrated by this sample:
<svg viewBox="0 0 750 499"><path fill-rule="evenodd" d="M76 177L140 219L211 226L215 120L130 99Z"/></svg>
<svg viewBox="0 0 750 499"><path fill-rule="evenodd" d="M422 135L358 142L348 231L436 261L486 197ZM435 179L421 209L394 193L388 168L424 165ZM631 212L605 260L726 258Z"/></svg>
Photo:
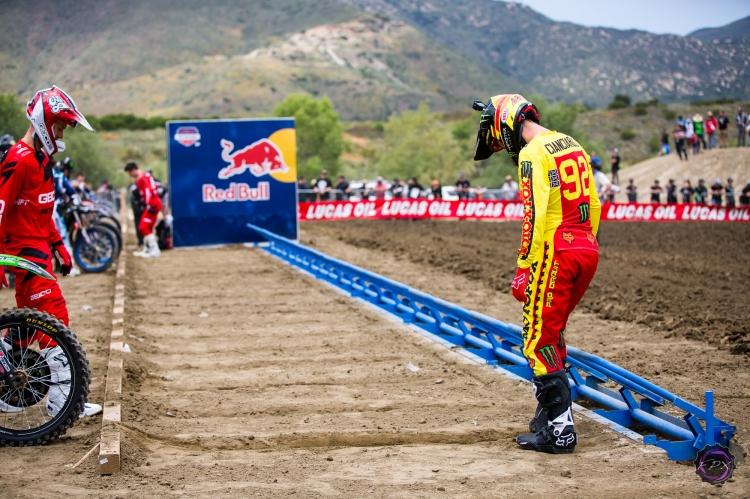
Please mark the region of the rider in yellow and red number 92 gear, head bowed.
<svg viewBox="0 0 750 499"><path fill-rule="evenodd" d="M520 435L523 449L573 452L573 426L564 331L599 262L596 232L601 205L589 164L578 143L539 125L539 113L521 95L496 95L482 111L474 160L505 149L518 167L524 204L513 296L523 306L523 352L534 370L538 401Z"/></svg>

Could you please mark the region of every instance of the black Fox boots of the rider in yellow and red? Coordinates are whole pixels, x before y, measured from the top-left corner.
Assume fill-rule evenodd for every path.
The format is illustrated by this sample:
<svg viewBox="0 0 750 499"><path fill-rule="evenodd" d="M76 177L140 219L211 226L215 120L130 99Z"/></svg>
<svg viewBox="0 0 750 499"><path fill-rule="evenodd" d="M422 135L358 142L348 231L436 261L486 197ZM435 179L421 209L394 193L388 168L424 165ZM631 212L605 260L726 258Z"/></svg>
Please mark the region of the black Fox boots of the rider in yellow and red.
<svg viewBox="0 0 750 499"><path fill-rule="evenodd" d="M524 450L549 452L551 454L568 454L573 452L578 442L573 426L571 411L570 384L565 371L558 371L532 379L534 395L542 411L547 412L549 421L546 426L537 428L536 433L519 435L516 443ZM532 419L533 424L540 424L539 411ZM531 424L529 426L531 426Z"/></svg>

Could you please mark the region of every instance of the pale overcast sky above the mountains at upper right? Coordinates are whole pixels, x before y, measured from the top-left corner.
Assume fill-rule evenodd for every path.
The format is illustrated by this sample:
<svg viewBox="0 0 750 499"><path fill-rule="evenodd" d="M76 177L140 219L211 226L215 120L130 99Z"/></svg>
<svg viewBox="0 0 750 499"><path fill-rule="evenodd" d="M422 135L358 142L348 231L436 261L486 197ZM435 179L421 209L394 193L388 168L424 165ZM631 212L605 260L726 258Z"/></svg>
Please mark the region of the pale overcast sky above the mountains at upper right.
<svg viewBox="0 0 750 499"><path fill-rule="evenodd" d="M750 15L749 0L520 0L555 21L687 35Z"/></svg>

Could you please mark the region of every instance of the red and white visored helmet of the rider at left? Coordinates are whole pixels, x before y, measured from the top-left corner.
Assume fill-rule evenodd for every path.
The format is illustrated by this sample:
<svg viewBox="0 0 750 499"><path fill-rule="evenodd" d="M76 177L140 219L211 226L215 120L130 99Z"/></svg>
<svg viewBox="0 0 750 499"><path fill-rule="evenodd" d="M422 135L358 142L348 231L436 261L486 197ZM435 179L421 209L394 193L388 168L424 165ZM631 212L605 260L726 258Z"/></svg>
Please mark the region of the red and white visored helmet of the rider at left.
<svg viewBox="0 0 750 499"><path fill-rule="evenodd" d="M58 121L72 127L81 124L87 130L94 131L76 107L73 99L54 85L52 88L40 90L34 95L26 106L26 117L31 121L37 138L50 156L58 150L65 150L65 144L55 140L52 132L52 125Z"/></svg>

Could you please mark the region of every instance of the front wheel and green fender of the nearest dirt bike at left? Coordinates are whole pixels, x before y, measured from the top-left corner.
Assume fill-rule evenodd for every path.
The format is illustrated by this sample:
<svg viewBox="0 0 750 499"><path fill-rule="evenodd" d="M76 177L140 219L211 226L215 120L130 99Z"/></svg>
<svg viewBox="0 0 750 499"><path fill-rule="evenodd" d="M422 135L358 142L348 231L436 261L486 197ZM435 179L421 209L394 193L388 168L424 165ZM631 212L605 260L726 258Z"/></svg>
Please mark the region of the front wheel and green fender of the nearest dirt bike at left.
<svg viewBox="0 0 750 499"><path fill-rule="evenodd" d="M0 265L44 279L42 267L0 254ZM45 445L78 420L89 395L86 352L54 316L29 308L0 312L0 445Z"/></svg>

